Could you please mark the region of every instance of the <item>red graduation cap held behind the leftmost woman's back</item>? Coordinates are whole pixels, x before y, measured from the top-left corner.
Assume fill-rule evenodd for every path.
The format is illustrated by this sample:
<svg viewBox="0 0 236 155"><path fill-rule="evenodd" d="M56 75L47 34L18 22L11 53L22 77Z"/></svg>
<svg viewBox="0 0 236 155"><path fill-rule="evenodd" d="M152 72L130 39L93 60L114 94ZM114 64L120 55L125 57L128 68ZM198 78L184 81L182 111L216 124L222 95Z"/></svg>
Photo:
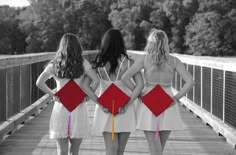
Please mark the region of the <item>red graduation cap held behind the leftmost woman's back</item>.
<svg viewBox="0 0 236 155"><path fill-rule="evenodd" d="M58 92L55 93L55 96L57 96L66 109L71 112L87 95L74 80L69 80Z"/></svg>

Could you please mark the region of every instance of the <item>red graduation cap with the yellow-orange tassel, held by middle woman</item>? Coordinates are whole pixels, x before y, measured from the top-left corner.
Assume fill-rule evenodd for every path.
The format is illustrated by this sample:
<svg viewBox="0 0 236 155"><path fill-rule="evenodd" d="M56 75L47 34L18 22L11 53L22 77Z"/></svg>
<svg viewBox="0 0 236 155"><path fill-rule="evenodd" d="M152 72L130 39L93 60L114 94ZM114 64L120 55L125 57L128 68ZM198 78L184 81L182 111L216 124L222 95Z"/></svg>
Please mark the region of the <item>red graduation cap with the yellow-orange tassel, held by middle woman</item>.
<svg viewBox="0 0 236 155"><path fill-rule="evenodd" d="M119 108L124 106L130 97L126 95L119 87L112 83L98 98L98 102L109 110L110 113L116 115Z"/></svg>

